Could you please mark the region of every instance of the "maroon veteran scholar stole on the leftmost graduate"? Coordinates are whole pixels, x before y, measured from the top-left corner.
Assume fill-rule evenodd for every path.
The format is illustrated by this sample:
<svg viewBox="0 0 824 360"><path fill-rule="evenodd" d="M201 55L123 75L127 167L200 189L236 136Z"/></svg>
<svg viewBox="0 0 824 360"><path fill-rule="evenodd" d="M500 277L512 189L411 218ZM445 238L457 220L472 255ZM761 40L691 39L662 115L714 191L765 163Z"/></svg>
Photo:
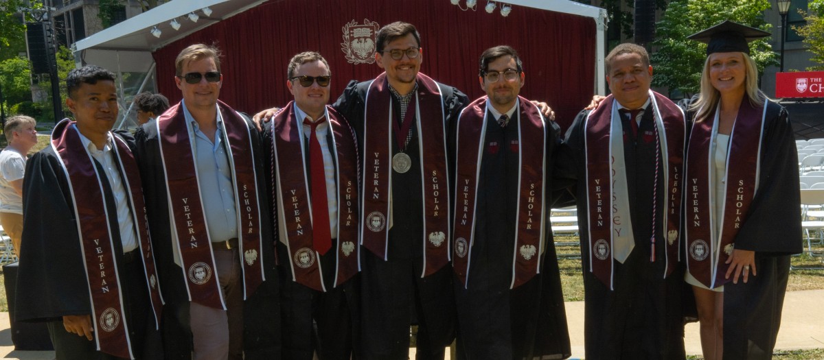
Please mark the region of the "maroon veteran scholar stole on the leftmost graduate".
<svg viewBox="0 0 824 360"><path fill-rule="evenodd" d="M77 233L91 294L91 319L97 349L119 358L134 358L129 339L129 324L126 323L124 316L123 293L120 292L115 245L112 242L112 229L103 196L102 179L79 134L76 122L64 119L54 127L51 144L61 160L60 164L72 192ZM125 141L117 135L112 137L112 150L120 164L124 187L129 189L130 210L138 235L138 247L143 255L141 259L151 298L155 329L158 329L163 299L160 284L157 282L152 242L148 235L148 220L138 164Z"/></svg>

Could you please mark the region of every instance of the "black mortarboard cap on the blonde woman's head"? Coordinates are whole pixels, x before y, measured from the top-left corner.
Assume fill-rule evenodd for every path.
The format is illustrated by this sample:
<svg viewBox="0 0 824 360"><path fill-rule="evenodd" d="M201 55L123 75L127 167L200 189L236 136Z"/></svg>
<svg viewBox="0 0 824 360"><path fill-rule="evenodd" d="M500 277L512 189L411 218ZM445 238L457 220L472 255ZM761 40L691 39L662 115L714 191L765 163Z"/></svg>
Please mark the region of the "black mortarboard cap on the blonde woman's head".
<svg viewBox="0 0 824 360"><path fill-rule="evenodd" d="M723 21L706 30L701 30L686 39L693 39L707 44L707 55L710 53L750 53L747 43L761 39L771 34L754 27L741 25L733 21Z"/></svg>

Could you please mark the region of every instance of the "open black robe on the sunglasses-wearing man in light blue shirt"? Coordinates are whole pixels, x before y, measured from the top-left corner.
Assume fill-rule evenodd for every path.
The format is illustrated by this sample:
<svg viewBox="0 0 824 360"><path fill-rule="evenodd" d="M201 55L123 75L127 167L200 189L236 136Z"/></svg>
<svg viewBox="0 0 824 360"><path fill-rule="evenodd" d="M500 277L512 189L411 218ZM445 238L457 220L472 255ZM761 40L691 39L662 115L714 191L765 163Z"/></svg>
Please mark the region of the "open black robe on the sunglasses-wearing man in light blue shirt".
<svg viewBox="0 0 824 360"><path fill-rule="evenodd" d="M182 110L181 110L182 111ZM260 153L262 147L257 129L250 120L252 146L255 148L255 172L258 188L265 189L265 164ZM143 194L146 196L147 216L155 249L155 261L163 298L166 306L163 312L166 358L190 358L192 334L189 329L189 298L183 270L175 263L171 237L171 220L166 193L166 178L163 175L162 153L158 142L157 124L148 122L135 133L134 152L143 180ZM279 279L274 256L274 235L271 223L269 194L258 192L260 204L260 237L263 238L262 258L265 265L266 281L255 293L246 295L243 314L243 348L246 359L280 358L280 308Z"/></svg>

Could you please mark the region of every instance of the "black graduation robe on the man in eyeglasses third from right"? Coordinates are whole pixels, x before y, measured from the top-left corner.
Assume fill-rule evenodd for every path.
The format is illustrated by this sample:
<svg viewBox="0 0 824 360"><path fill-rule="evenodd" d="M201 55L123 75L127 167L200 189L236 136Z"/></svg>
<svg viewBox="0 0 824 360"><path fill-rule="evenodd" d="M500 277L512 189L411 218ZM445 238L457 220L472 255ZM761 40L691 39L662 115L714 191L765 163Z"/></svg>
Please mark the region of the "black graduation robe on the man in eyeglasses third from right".
<svg viewBox="0 0 824 360"><path fill-rule="evenodd" d="M491 116L491 115L488 115ZM458 316L457 358L522 359L569 358L569 330L564 312L558 258L550 228L551 169L560 145L560 129L547 122L545 252L541 273L510 289L517 215L520 167L517 122L500 127L487 119L483 160L478 178L475 240L471 251L468 287L455 278ZM449 144L455 146L454 130ZM451 157L455 152L451 151ZM528 156L523 154L523 156ZM452 159L452 164L455 159Z"/></svg>

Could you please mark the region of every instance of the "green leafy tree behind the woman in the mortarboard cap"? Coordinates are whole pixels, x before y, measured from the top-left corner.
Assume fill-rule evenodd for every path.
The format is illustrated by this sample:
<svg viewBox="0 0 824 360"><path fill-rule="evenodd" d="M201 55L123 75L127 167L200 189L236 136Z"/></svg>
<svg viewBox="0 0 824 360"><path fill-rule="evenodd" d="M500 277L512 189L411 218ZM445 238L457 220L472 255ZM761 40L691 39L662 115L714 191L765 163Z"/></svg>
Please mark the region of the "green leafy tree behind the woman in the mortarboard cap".
<svg viewBox="0 0 824 360"><path fill-rule="evenodd" d="M821 1L821 0L818 0ZM653 85L680 90L686 96L699 91L701 69L706 58L706 44L686 39L721 21L730 20L770 31L763 12L769 0L673 0L657 25L656 40L650 61L655 69ZM778 54L765 39L750 43L750 57L764 68L777 65Z"/></svg>

